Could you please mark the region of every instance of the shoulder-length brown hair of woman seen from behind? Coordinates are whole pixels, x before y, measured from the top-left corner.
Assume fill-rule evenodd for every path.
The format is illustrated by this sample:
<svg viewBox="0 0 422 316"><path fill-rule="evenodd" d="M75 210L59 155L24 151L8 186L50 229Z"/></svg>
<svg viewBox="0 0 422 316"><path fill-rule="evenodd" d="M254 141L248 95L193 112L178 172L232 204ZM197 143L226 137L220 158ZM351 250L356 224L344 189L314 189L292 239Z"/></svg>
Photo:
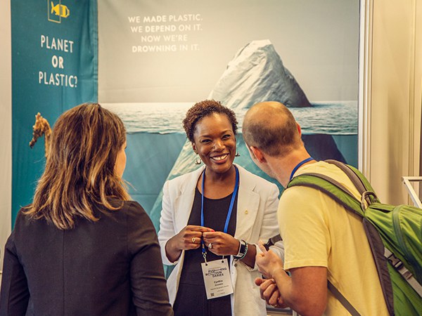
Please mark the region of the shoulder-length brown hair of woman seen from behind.
<svg viewBox="0 0 422 316"><path fill-rule="evenodd" d="M129 200L115 173L117 153L125 141L122 120L97 103L61 114L53 127L45 171L25 213L68 230L78 217L98 220L93 211L98 206L120 209L110 199Z"/></svg>

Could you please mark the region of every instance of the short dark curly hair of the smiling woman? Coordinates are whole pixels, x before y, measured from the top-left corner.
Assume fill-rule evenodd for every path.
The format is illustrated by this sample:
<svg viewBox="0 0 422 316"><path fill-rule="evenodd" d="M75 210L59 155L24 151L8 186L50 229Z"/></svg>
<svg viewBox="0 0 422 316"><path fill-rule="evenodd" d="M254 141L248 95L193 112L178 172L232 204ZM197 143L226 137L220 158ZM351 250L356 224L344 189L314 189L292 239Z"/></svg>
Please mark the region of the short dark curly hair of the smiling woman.
<svg viewBox="0 0 422 316"><path fill-rule="evenodd" d="M193 107L186 112L186 117L183 120L183 128L188 140L193 143L193 133L195 133L196 123L198 123L200 119L203 119L213 113L225 114L231 123L234 135L236 135L238 121L234 111L230 110L229 107L225 107L219 101L203 100L193 105Z"/></svg>

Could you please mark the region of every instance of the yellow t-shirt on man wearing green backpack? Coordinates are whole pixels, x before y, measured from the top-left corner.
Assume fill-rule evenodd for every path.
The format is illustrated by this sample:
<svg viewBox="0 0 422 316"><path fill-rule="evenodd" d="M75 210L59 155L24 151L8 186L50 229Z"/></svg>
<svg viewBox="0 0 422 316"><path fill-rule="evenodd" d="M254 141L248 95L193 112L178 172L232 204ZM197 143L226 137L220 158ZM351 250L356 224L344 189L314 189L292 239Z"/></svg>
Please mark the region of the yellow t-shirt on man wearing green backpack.
<svg viewBox="0 0 422 316"><path fill-rule="evenodd" d="M333 164L316 162L296 171L323 173L359 197L345 173ZM361 315L388 315L362 218L311 187L283 192L278 219L284 241L284 268L326 267L328 280ZM350 315L328 291L324 315Z"/></svg>

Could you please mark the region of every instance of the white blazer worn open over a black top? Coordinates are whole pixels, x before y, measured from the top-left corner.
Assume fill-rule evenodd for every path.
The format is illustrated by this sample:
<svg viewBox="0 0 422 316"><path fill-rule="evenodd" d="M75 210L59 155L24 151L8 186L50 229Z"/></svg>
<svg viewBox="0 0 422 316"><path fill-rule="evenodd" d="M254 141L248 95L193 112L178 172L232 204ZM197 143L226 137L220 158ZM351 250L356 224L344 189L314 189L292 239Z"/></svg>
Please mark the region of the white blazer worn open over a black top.
<svg viewBox="0 0 422 316"><path fill-rule="evenodd" d="M276 211L279 204L279 188L259 176L238 166L239 189L236 216L236 232L234 237L244 239L248 244L255 244L259 240L267 240L279 234ZM167 289L170 303L174 304L179 279L184 262L184 251L179 260L170 262L165 254L165 244L177 235L188 223L191 215L196 184L205 166L196 171L186 173L165 183L163 187L162 211L158 241L161 246L162 261L166 265L176 265L169 279ZM276 243L271 248L283 258L283 244ZM257 254L261 251L257 246ZM254 283L256 277L261 277L257 270L248 267L241 261L235 263L230 257L231 282L234 294L231 294L232 315L267 315L265 301L260 298L260 288Z"/></svg>

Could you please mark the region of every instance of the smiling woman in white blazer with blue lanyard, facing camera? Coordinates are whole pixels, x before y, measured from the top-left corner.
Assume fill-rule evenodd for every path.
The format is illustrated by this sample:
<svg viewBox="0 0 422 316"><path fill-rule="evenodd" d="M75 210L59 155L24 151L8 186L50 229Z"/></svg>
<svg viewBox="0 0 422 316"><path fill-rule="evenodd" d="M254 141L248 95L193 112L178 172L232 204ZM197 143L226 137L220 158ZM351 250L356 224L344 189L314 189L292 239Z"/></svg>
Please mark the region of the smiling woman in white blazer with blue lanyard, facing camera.
<svg viewBox="0 0 422 316"><path fill-rule="evenodd" d="M184 129L205 166L167 181L158 239L174 315L267 315L255 264L259 240L279 233L279 189L241 166L237 121L215 100L193 105ZM281 242L273 247L283 254Z"/></svg>

